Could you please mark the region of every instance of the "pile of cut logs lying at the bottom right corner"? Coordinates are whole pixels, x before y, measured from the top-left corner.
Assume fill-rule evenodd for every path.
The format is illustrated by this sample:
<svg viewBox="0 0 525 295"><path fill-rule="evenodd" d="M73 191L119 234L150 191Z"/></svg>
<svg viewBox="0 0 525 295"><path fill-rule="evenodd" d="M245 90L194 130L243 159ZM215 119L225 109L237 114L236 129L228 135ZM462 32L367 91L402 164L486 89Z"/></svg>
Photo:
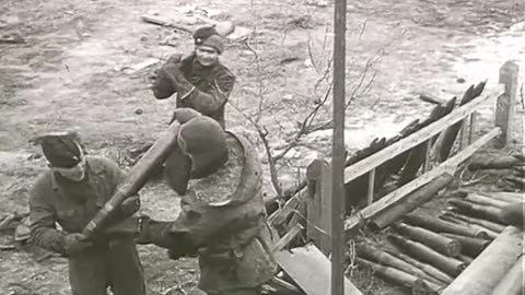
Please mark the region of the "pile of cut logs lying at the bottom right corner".
<svg viewBox="0 0 525 295"><path fill-rule="evenodd" d="M441 214L417 209L386 228L386 241L358 245L355 263L412 291L427 288L427 294L521 294L523 229L506 226L501 217L503 208L518 202L523 205L525 196L459 191ZM486 260L498 264L494 271L488 262L477 269ZM472 286L479 278L488 283Z"/></svg>

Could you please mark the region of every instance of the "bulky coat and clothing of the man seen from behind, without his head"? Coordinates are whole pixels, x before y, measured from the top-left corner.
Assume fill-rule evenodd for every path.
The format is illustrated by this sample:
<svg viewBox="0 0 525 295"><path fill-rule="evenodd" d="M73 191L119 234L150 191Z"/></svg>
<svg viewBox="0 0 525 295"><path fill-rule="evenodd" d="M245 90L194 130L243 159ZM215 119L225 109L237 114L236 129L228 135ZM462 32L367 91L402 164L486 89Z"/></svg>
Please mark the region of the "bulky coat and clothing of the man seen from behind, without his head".
<svg viewBox="0 0 525 295"><path fill-rule="evenodd" d="M150 220L143 228L143 240L167 248L173 259L197 255L201 272L199 287L208 294L258 294L260 285L276 271L271 247L277 236L266 222L256 152L238 135L225 132L223 137L228 161L214 172L208 170L208 175L189 180L177 219L174 222ZM186 151L191 145L184 144ZM210 144L208 149L220 156L221 153L217 153L220 145ZM180 157L171 156L166 166L180 167L177 158ZM194 165L192 173L195 168ZM172 175L167 169L166 176L180 175Z"/></svg>

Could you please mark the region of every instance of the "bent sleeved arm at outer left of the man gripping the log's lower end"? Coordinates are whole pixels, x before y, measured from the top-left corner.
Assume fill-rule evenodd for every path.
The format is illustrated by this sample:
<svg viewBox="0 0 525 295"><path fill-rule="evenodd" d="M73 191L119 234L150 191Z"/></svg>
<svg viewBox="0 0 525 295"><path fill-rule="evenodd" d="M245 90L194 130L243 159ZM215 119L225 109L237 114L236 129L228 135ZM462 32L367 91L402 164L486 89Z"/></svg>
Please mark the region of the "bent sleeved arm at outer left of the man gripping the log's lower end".
<svg viewBox="0 0 525 295"><path fill-rule="evenodd" d="M65 252L65 235L56 228L56 212L47 202L46 190L36 185L31 191L31 240L48 250Z"/></svg>

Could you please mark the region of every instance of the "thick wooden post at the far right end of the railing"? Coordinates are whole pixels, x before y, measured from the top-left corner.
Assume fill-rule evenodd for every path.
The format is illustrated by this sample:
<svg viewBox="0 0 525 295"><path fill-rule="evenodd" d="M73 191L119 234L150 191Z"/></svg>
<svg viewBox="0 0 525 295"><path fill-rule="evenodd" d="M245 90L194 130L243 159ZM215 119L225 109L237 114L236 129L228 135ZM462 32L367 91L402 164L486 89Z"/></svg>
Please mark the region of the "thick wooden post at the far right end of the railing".
<svg viewBox="0 0 525 295"><path fill-rule="evenodd" d="M514 61L506 61L500 69L500 83L505 85L505 92L498 97L495 108L495 125L503 130L498 139L497 148L503 148L512 140L512 119L517 101L517 76L520 67Z"/></svg>

